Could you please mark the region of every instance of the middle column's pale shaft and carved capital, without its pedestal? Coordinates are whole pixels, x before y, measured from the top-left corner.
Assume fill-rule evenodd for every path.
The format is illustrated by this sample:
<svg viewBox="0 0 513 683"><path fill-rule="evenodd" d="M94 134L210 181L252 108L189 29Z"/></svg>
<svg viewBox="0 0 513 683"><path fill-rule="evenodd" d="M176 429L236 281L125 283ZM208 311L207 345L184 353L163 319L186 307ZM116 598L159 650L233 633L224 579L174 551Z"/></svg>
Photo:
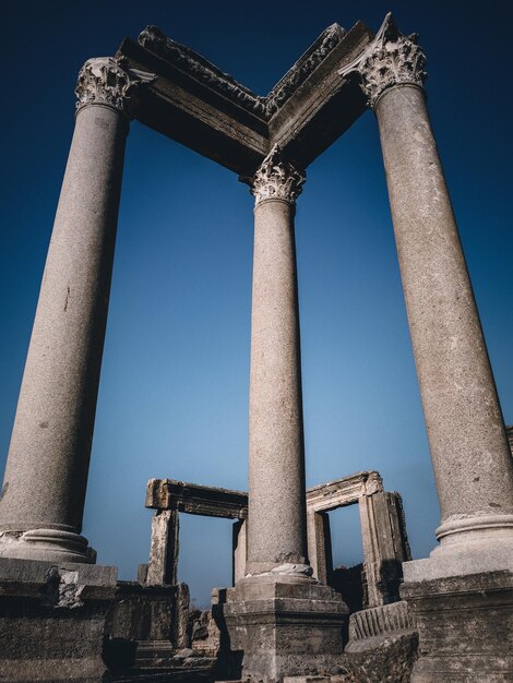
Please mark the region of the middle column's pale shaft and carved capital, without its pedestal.
<svg viewBox="0 0 513 683"><path fill-rule="evenodd" d="M273 147L256 171L247 574L310 571L307 560L294 214L305 176ZM296 565L293 570L291 565Z"/></svg>

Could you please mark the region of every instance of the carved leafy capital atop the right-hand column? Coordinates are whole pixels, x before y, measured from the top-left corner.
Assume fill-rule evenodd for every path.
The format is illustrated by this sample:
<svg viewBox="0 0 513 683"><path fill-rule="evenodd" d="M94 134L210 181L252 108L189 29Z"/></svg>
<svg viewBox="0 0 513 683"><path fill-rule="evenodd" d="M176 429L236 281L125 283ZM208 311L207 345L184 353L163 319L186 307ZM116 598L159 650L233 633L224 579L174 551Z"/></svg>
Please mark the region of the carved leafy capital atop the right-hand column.
<svg viewBox="0 0 513 683"><path fill-rule="evenodd" d="M422 87L427 77L423 70L426 56L417 45L417 34L404 36L395 25L392 14L386 15L358 68L360 86L371 108L374 108L378 98L387 87L402 83Z"/></svg>

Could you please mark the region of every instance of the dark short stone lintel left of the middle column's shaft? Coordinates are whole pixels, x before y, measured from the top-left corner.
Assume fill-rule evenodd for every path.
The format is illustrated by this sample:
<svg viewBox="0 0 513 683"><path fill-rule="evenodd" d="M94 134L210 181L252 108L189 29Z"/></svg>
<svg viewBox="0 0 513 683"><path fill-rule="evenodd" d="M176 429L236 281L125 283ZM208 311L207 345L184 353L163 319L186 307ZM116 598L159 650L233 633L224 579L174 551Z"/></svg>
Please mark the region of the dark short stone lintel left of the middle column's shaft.
<svg viewBox="0 0 513 683"><path fill-rule="evenodd" d="M153 510L178 510L205 517L246 519L248 516L247 493L175 479L150 479L145 505Z"/></svg>

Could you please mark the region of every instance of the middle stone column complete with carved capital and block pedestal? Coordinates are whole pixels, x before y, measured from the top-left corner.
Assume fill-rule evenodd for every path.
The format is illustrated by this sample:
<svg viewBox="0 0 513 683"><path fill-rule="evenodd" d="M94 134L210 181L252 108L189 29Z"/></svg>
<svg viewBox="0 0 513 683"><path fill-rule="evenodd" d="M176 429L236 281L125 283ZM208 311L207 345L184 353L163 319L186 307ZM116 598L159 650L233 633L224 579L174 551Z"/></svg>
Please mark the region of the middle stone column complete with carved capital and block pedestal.
<svg viewBox="0 0 513 683"><path fill-rule="evenodd" d="M326 675L348 608L307 559L295 202L305 177L274 146L255 197L251 321L248 560L222 606L240 678Z"/></svg>

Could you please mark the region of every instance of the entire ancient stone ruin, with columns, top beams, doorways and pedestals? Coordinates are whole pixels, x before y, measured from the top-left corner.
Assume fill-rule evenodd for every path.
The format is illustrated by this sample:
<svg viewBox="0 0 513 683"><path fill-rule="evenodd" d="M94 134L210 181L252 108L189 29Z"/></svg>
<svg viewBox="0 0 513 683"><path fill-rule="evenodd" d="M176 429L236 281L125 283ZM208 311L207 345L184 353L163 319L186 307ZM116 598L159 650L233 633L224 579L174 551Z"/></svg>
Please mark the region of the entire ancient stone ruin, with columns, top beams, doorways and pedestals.
<svg viewBox="0 0 513 683"><path fill-rule="evenodd" d="M344 680L362 662L356 680L386 671L406 681L417 655L417 683L512 680L512 457L425 76L416 37L391 15L375 35L330 26L266 97L152 26L84 64L0 502L4 680L116 680L120 669L119 680L136 680L153 664L168 680ZM421 560L409 559L397 499L372 489L375 474L341 480L345 490L305 487L295 205L305 169L366 108L380 131L442 511L440 543ZM154 482L150 566L123 584L95 564L81 526L133 118L238 173L254 195L250 478L248 498L195 487L191 499L177 482ZM368 609L350 626L327 580L323 516L344 500L358 501L368 542ZM216 591L215 624L195 622L208 636L196 657L183 649L187 589L175 575L177 515L193 506L248 519L235 587ZM401 601L401 574L389 576L384 561L402 563ZM411 655L405 643L417 634Z"/></svg>

